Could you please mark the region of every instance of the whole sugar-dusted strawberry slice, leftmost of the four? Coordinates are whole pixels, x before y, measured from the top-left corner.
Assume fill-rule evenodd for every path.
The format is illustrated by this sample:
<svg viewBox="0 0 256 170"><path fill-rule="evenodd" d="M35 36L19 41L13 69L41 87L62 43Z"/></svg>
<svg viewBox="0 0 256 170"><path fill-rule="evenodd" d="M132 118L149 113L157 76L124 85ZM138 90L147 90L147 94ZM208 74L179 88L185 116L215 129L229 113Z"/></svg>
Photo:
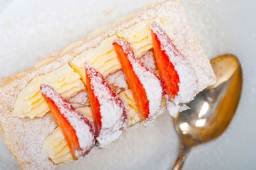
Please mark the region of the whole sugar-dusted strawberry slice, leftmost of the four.
<svg viewBox="0 0 256 170"><path fill-rule="evenodd" d="M40 89L67 140L74 160L88 154L94 140L91 123L50 86L42 84Z"/></svg>

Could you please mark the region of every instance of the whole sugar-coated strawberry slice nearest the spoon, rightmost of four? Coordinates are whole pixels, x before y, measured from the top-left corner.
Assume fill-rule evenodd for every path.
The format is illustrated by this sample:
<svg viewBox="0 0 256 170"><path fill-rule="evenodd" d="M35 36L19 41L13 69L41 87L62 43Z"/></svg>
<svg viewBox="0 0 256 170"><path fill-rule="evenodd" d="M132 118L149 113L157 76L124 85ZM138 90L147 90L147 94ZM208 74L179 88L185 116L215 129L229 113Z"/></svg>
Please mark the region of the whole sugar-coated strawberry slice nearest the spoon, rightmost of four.
<svg viewBox="0 0 256 170"><path fill-rule="evenodd" d="M166 32L156 22L150 28L156 65L168 99L167 109L175 116L181 104L195 97L198 78L193 66L176 49Z"/></svg>

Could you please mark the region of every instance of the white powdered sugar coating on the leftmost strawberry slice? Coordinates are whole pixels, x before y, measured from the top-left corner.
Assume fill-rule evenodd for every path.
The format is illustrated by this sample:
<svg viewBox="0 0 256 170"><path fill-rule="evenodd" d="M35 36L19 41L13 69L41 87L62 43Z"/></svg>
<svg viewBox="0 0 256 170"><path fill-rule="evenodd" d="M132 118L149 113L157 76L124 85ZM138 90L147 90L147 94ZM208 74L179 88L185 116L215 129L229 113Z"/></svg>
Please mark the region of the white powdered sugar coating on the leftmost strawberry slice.
<svg viewBox="0 0 256 170"><path fill-rule="evenodd" d="M76 151L76 157L79 158L84 156L84 152L88 153L93 146L94 133L90 122L50 86L42 84L41 92L54 102L61 114L74 128L81 148L81 151Z"/></svg>

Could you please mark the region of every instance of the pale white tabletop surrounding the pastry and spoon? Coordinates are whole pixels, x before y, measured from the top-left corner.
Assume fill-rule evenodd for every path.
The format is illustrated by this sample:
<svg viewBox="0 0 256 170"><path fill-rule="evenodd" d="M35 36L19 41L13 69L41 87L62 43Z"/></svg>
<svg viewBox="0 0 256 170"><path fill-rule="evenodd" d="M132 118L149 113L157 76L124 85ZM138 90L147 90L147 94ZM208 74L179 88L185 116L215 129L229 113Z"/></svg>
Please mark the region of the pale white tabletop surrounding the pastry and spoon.
<svg viewBox="0 0 256 170"><path fill-rule="evenodd" d="M234 120L220 138L191 151L184 169L256 169L256 10L253 0L181 0L206 54L232 52L243 67L243 93ZM79 40L93 29L154 0L0 0L0 77ZM179 150L172 118L153 128L129 128L108 150L60 169L168 169ZM19 169L0 137L0 169Z"/></svg>

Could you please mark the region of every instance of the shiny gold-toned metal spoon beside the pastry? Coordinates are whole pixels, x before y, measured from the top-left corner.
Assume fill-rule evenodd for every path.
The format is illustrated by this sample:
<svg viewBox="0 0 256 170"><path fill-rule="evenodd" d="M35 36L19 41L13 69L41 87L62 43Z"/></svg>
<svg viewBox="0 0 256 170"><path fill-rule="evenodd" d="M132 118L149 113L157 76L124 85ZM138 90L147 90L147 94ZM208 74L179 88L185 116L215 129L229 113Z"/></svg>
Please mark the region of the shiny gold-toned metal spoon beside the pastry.
<svg viewBox="0 0 256 170"><path fill-rule="evenodd" d="M220 136L232 120L243 84L241 65L232 54L211 60L216 84L198 93L188 104L191 109L180 112L174 125L180 138L179 156L173 169L181 169L189 151L197 144Z"/></svg>

